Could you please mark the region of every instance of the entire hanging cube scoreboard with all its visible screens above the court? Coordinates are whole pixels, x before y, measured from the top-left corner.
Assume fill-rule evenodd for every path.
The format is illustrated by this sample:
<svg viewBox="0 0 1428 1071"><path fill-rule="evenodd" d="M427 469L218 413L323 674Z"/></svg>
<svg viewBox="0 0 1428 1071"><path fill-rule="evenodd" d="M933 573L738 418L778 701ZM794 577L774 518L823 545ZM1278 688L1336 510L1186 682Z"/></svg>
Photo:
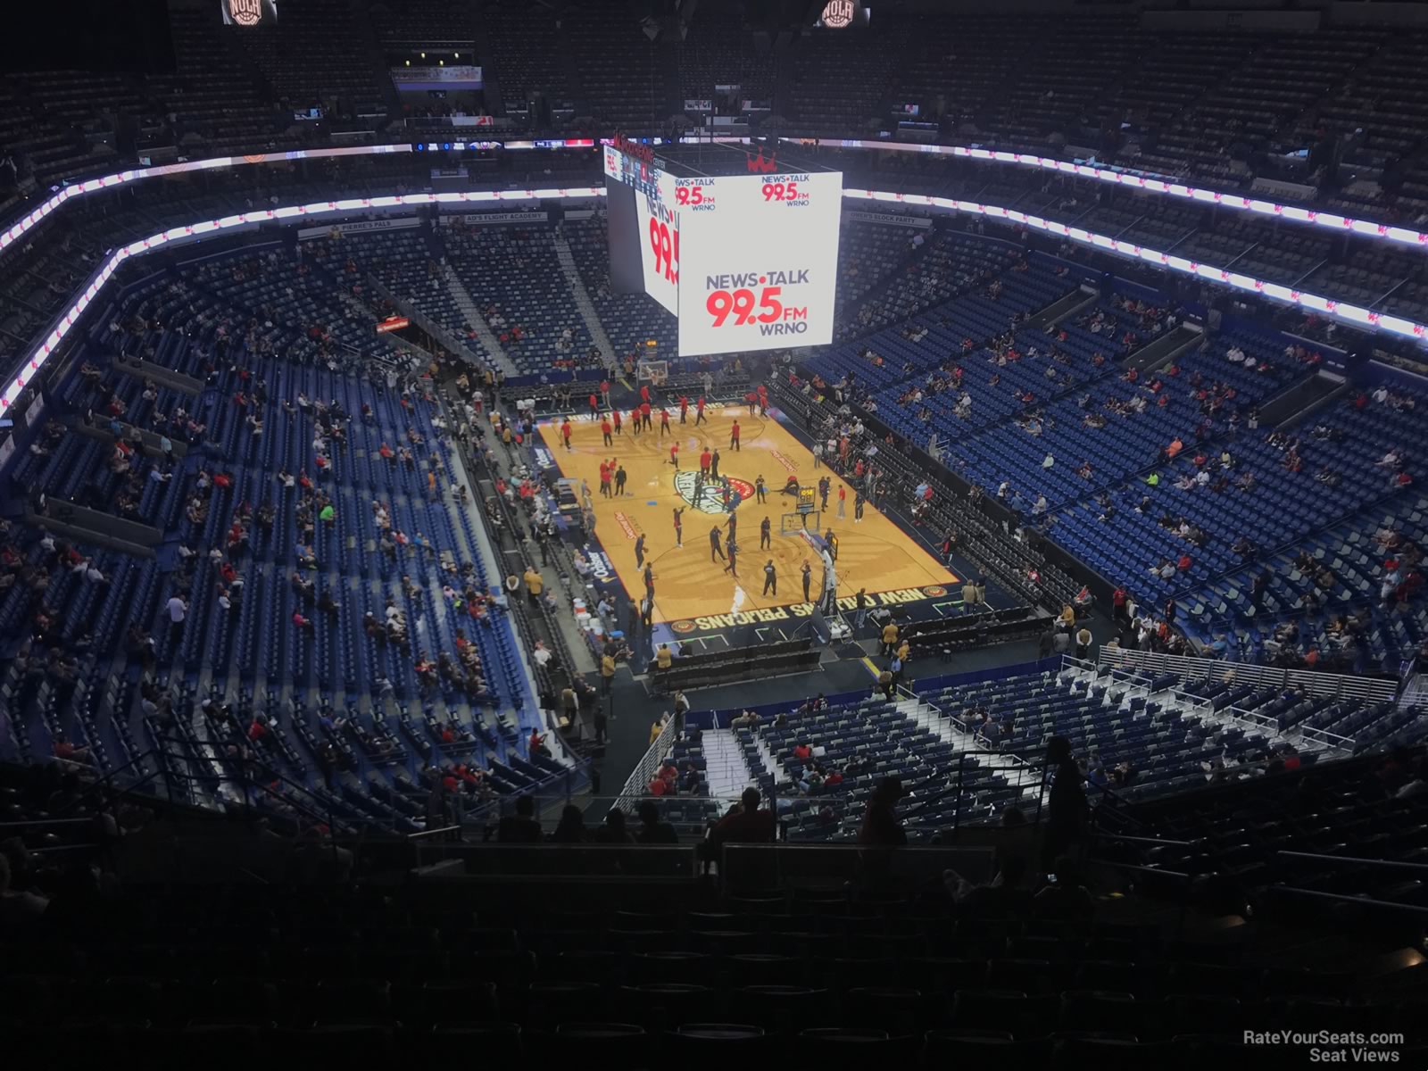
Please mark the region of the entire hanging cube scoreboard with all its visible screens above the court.
<svg viewBox="0 0 1428 1071"><path fill-rule="evenodd" d="M833 341L843 174L677 176L604 147L610 276L678 318L687 357Z"/></svg>

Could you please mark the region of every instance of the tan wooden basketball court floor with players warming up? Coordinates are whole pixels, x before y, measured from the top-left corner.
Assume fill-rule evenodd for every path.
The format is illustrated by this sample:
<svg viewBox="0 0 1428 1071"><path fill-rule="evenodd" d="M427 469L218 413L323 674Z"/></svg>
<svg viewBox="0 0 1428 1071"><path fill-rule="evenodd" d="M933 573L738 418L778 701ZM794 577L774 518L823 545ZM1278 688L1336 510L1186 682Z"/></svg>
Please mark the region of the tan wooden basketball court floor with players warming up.
<svg viewBox="0 0 1428 1071"><path fill-rule="evenodd" d="M740 450L730 447L730 430L740 424ZM823 590L824 564L820 547L803 533L794 496L783 494L790 476L803 488L831 480L827 508L808 517L811 536L831 528L838 541L835 563L837 595L851 608L858 588L867 588L871 605L945 598L947 587L960 583L937 558L918 545L873 506L863 520L854 520L854 493L825 466L814 467L813 454L790 434L770 410L767 417L747 406L708 407L704 423L695 426L691 406L685 424L678 407L670 408L670 431L660 434L658 408L653 428L638 436L625 421L623 434L605 446L600 423L588 417L571 420L571 450L561 443L560 420L544 421L540 433L561 476L584 480L595 510L595 536L610 558L625 594L638 603L644 597L643 571L635 564L635 541L644 536L644 558L654 570L654 621L670 623L675 633L703 630L708 621L778 621L805 618L803 565L811 568L814 601ZM678 443L678 468L670 464L670 447ZM730 477L730 494L737 500L738 575L727 561L710 561L710 530L720 527L720 547L728 541L730 513L714 481L695 483L700 454L718 448L720 476ZM601 461L617 460L627 473L623 497L600 494ZM754 486L763 476L765 501L757 501ZM847 488L844 517L838 517L838 488ZM614 487L611 486L611 491ZM698 501L695 501L698 490ZM815 503L821 506L821 503ZM674 510L683 508L684 545L674 538ZM760 524L768 518L771 547L760 548ZM787 530L787 531L784 531ZM727 551L725 551L727 553ZM764 594L764 564L773 558L778 574L777 594ZM727 621L733 623L733 621Z"/></svg>

